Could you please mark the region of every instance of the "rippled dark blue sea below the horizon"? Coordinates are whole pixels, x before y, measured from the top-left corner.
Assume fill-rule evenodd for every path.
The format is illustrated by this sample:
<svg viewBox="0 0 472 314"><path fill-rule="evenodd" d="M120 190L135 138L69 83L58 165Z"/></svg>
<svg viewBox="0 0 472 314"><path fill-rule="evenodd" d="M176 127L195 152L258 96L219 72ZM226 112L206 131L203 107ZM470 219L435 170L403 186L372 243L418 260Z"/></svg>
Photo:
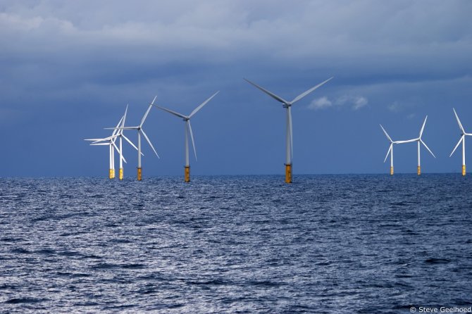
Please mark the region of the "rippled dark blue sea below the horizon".
<svg viewBox="0 0 472 314"><path fill-rule="evenodd" d="M0 313L472 306L472 175L0 179Z"/></svg>

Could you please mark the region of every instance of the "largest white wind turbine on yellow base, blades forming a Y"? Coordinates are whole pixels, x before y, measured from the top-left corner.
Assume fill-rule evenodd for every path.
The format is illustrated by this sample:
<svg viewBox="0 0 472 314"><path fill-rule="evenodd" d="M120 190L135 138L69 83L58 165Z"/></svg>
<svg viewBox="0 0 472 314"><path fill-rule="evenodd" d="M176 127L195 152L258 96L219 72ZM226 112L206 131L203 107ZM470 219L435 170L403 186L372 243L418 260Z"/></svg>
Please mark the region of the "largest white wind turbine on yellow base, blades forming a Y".
<svg viewBox="0 0 472 314"><path fill-rule="evenodd" d="M293 155L293 134L292 134L292 113L291 113L291 107L294 103L299 101L300 99L304 98L304 96L310 94L313 92L315 89L318 87L321 87L323 84L328 82L329 80L332 80L333 77L330 77L328 80L325 80L324 82L321 82L320 84L311 87L311 89L308 89L306 92L303 92L302 94L299 94L297 97L295 97L292 101L286 101L285 99L282 99L282 97L277 96L273 94L272 92L269 92L267 89L264 89L263 87L260 87L258 84L255 84L247 79L247 82L249 84L254 85L254 87L257 87L258 89L261 89L262 92L268 94L271 96L273 99L276 101L280 101L282 103L283 108L287 109L287 137L286 137L286 152L285 152L285 183L292 183L292 155Z"/></svg>

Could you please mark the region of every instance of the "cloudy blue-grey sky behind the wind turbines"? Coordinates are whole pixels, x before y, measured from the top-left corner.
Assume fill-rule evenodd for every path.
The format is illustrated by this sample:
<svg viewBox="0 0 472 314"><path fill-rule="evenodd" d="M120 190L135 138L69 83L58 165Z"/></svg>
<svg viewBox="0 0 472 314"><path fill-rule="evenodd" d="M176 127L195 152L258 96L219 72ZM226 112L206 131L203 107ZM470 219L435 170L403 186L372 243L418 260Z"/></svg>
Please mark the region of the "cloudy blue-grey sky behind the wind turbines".
<svg viewBox="0 0 472 314"><path fill-rule="evenodd" d="M106 137L129 104L189 114L192 175L282 175L285 109L243 78L294 99L293 172L387 173L389 142L418 137L423 172L461 172L452 108L472 132L472 1L0 1L0 177L106 177ZM183 175L184 123L144 123L143 176ZM135 131L126 135L137 142ZM466 140L466 153L472 139ZM125 177L137 153L125 145ZM416 144L395 146L416 172ZM471 163L472 151L466 156ZM118 158L116 158L118 168Z"/></svg>

